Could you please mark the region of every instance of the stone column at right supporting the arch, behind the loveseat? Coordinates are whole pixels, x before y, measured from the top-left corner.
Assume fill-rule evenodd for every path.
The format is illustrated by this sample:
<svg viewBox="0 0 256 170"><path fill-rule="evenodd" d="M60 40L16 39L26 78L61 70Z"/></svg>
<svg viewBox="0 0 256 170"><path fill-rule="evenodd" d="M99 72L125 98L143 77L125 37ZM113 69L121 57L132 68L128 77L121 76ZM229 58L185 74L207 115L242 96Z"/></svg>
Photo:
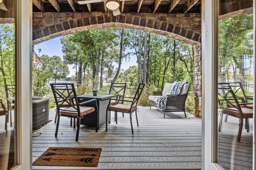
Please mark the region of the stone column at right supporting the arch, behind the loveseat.
<svg viewBox="0 0 256 170"><path fill-rule="evenodd" d="M194 45L195 115L202 117L202 53L201 43Z"/></svg>

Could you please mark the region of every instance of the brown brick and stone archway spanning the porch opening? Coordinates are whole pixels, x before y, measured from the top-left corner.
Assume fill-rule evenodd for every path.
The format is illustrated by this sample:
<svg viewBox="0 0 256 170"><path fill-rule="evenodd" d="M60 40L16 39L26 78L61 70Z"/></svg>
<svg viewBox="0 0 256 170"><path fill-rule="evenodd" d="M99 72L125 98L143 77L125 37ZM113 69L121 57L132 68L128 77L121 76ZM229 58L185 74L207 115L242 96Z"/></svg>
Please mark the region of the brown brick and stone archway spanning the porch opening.
<svg viewBox="0 0 256 170"><path fill-rule="evenodd" d="M167 14L126 13L120 15L117 20L118 22L116 22L116 17L112 15L108 17L108 14L102 12L34 12L33 44L70 33L103 27L141 29L191 45L197 45L201 41L201 33L193 30L200 30L201 25L199 24L201 18L196 17L196 14L188 14L186 17L185 14L168 16Z"/></svg>

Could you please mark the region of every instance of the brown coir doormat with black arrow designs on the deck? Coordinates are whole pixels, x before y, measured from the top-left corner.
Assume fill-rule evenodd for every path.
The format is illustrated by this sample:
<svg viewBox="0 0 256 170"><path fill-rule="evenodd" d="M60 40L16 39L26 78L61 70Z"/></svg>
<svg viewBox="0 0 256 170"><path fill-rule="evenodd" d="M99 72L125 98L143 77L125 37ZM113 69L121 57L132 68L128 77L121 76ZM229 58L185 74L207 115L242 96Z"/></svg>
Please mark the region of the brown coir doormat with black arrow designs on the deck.
<svg viewBox="0 0 256 170"><path fill-rule="evenodd" d="M34 166L98 166L101 148L49 148Z"/></svg>

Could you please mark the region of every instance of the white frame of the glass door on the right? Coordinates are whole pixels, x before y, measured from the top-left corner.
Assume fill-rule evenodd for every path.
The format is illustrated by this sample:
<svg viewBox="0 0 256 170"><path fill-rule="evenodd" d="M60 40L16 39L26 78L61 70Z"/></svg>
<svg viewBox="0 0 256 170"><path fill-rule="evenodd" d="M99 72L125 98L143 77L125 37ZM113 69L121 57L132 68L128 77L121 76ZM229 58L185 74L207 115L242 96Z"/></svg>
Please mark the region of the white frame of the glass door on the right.
<svg viewBox="0 0 256 170"><path fill-rule="evenodd" d="M223 170L218 155L218 1L202 0L202 170ZM256 61L256 0L254 0L254 61ZM254 62L254 98L256 97ZM256 101L254 100L254 106ZM215 114L214 114L215 113ZM256 114L253 125L253 170L256 170Z"/></svg>

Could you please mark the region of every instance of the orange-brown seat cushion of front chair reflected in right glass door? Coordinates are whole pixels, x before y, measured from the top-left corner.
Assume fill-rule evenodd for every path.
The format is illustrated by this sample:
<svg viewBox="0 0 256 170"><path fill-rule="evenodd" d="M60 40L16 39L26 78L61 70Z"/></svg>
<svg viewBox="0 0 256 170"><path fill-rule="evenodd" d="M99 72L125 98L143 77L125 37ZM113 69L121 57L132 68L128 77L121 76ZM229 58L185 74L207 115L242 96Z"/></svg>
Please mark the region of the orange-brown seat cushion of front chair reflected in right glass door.
<svg viewBox="0 0 256 170"><path fill-rule="evenodd" d="M253 110L245 107L241 107L243 118L252 118L253 117ZM223 113L228 113L230 115L234 115L236 117L240 117L240 113L238 109L234 107L228 107L223 109ZM241 117L242 118L242 117Z"/></svg>

